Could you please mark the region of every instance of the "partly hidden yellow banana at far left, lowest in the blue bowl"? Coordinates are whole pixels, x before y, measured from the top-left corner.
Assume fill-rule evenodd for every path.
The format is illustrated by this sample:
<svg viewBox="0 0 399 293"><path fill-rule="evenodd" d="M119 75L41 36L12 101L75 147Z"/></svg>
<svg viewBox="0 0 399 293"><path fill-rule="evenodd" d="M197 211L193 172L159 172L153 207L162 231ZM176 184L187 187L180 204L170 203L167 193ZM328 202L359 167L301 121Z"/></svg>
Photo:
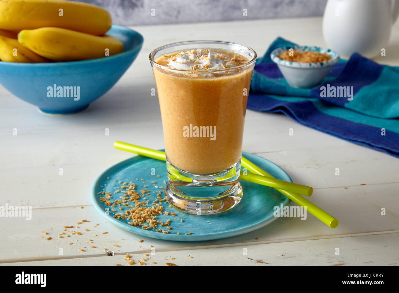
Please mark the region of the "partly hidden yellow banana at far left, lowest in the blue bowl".
<svg viewBox="0 0 399 293"><path fill-rule="evenodd" d="M4 36L0 36L0 60L25 63L48 62L47 59L18 43L16 39Z"/></svg>

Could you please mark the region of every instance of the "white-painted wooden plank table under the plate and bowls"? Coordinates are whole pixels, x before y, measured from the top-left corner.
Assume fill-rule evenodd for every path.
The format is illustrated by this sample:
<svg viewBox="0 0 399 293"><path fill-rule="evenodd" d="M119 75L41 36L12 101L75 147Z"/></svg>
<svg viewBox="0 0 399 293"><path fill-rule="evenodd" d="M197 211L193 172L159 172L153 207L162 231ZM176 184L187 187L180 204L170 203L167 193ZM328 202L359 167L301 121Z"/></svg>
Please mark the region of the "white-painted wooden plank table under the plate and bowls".
<svg viewBox="0 0 399 293"><path fill-rule="evenodd" d="M0 87L0 205L32 206L32 220L0 218L0 263L126 264L125 253L138 260L150 253L152 245L156 253L150 255L151 261L157 265L399 264L399 159L306 128L282 114L248 110L243 150L275 162L294 182L314 187L310 199L340 220L336 229L308 214L305 221L280 218L233 238L167 242L122 230L106 222L91 204L95 178L132 156L113 149L115 140L164 147L158 100L151 96L155 84L148 53L152 49L183 39L223 39L249 45L261 56L278 35L300 44L326 46L321 22L321 18L296 18L134 27L144 35L136 61L107 94L76 115L41 114ZM387 55L376 61L399 65L398 47L399 22ZM14 128L17 136L12 134ZM289 128L294 136L288 135ZM340 168L339 176L335 168ZM386 209L385 216L381 208ZM90 232L57 238L63 226L76 226L82 219L89 222L81 228L89 227ZM43 230L48 235L41 234ZM89 239L94 243L87 243ZM79 251L83 246L88 248ZM115 255L105 257L102 248Z"/></svg>

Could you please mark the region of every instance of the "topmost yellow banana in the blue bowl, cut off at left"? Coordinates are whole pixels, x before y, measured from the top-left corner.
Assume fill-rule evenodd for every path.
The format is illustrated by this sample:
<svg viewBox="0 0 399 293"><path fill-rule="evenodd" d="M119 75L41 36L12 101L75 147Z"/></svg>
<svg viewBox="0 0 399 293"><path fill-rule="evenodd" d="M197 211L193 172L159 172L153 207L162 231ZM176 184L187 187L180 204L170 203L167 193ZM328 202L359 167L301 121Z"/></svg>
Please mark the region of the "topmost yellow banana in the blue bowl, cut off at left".
<svg viewBox="0 0 399 293"><path fill-rule="evenodd" d="M65 0L0 1L0 29L56 27L103 35L111 24L109 12L93 4Z"/></svg>

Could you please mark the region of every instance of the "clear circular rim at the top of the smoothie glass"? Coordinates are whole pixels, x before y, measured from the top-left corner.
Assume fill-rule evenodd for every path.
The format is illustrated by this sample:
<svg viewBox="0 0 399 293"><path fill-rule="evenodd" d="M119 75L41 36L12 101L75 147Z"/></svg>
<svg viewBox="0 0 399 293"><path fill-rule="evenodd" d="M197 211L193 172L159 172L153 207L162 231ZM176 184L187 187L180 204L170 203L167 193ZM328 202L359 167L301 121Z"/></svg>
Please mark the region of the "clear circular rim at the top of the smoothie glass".
<svg viewBox="0 0 399 293"><path fill-rule="evenodd" d="M178 44L182 44L182 43L196 43L196 42L214 42L214 43L223 43L223 44L233 44L233 45L239 45L242 47L245 47L246 49L248 49L248 51L251 51L253 53L253 58L247 62L245 62L244 64L235 66L235 67L230 67L230 68L223 68L223 69L213 69L213 70L192 70L192 69L178 69L178 68L172 68L172 67L167 67L165 65L161 65L159 63L156 63L156 61L153 59L153 56L155 56L155 52L159 51L160 49L170 46L170 45L178 45ZM257 54L255 52L254 49L252 49L251 47L248 47L246 45L240 44L240 43L235 43L235 42L229 42L229 41L219 41L219 40L191 40L191 41L179 41L179 42L173 42L173 43L169 43L166 45L162 45L154 50L151 51L150 55L148 55L148 59L150 59L150 62L162 69L166 69L166 70L173 70L173 71L182 71L182 72L192 72L192 73L212 73L212 72L221 72L221 71L228 71L228 70L233 70L233 69L240 69L242 67L245 67L253 62L255 62L257 58Z"/></svg>

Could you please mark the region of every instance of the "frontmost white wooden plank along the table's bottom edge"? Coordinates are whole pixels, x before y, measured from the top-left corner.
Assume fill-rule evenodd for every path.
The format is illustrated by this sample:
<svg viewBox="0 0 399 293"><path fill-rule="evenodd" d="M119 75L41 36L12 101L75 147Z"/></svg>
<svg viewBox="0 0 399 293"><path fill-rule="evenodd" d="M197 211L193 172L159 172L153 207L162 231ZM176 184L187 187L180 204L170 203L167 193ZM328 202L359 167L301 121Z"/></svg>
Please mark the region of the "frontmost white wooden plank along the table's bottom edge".
<svg viewBox="0 0 399 293"><path fill-rule="evenodd" d="M399 233L361 235L344 238L304 240L269 244L239 244L229 247L184 250L144 250L129 253L145 265L397 265ZM126 250L125 250L126 251ZM339 252L339 255L336 253ZM148 254L145 256L144 254ZM25 262L28 265L128 265L125 252L114 256L63 258ZM190 256L192 258L190 258ZM172 260L174 258L174 260ZM156 262L156 264L152 264ZM20 265L20 262L6 265ZM4 264L3 264L4 265Z"/></svg>

